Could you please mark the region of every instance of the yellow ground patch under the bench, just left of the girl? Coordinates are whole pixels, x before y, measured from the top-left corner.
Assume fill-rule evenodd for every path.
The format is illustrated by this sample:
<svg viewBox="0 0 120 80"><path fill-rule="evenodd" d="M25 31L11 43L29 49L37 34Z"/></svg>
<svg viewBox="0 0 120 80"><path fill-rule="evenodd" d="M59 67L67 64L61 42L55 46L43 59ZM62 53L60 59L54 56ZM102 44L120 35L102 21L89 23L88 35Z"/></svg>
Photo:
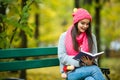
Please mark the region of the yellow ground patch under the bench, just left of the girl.
<svg viewBox="0 0 120 80"><path fill-rule="evenodd" d="M60 77L59 66L31 69L28 70L27 73L28 80L62 80Z"/></svg>

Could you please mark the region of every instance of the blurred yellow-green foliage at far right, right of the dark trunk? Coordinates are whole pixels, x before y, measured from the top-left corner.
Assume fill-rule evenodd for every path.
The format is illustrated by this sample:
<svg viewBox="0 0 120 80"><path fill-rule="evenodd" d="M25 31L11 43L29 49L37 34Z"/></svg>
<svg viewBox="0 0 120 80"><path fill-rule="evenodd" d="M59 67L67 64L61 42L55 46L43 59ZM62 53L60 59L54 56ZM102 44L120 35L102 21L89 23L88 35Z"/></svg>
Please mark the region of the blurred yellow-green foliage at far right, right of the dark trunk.
<svg viewBox="0 0 120 80"><path fill-rule="evenodd" d="M110 0L104 4L106 7L102 7L102 28L101 35L103 36L102 45L110 48L110 43L119 39L120 35L120 1Z"/></svg>

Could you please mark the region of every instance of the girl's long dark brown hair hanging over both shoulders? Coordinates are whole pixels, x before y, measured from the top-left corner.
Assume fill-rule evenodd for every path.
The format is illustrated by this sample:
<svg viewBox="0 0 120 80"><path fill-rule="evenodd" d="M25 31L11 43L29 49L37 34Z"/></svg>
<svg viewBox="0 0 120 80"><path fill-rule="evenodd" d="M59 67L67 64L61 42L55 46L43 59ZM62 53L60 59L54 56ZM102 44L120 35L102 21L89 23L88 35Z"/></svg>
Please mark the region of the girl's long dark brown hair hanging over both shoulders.
<svg viewBox="0 0 120 80"><path fill-rule="evenodd" d="M76 36L78 35L78 23L76 23L74 25L74 27L72 28L71 31L71 36L72 36L72 43L73 43L73 48L76 51L79 51L78 47L78 43L76 41ZM91 23L89 23L89 27L87 28L87 30L85 31L87 34L87 38L88 38L88 46L89 46L89 51L92 51L92 46L93 46L93 39L92 39L92 33L91 33Z"/></svg>

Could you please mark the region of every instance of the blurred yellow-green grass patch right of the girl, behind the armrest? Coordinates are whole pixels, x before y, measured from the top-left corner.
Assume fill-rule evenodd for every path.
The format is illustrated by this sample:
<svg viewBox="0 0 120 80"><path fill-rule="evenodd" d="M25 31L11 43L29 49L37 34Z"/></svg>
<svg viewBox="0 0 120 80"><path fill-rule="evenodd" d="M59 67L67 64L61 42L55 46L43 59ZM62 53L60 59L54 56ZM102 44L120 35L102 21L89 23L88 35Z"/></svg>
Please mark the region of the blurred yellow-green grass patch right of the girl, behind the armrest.
<svg viewBox="0 0 120 80"><path fill-rule="evenodd" d="M120 80L120 58L101 59L101 67L110 69L111 80Z"/></svg>

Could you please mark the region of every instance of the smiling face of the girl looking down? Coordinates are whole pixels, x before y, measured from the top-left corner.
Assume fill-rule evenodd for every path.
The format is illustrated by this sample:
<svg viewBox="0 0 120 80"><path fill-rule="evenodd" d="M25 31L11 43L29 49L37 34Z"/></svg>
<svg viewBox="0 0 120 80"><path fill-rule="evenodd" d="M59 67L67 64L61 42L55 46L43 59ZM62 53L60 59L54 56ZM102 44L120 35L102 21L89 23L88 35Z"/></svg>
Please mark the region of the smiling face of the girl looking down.
<svg viewBox="0 0 120 80"><path fill-rule="evenodd" d="M78 33L85 32L89 27L90 20L83 19L78 22Z"/></svg>

